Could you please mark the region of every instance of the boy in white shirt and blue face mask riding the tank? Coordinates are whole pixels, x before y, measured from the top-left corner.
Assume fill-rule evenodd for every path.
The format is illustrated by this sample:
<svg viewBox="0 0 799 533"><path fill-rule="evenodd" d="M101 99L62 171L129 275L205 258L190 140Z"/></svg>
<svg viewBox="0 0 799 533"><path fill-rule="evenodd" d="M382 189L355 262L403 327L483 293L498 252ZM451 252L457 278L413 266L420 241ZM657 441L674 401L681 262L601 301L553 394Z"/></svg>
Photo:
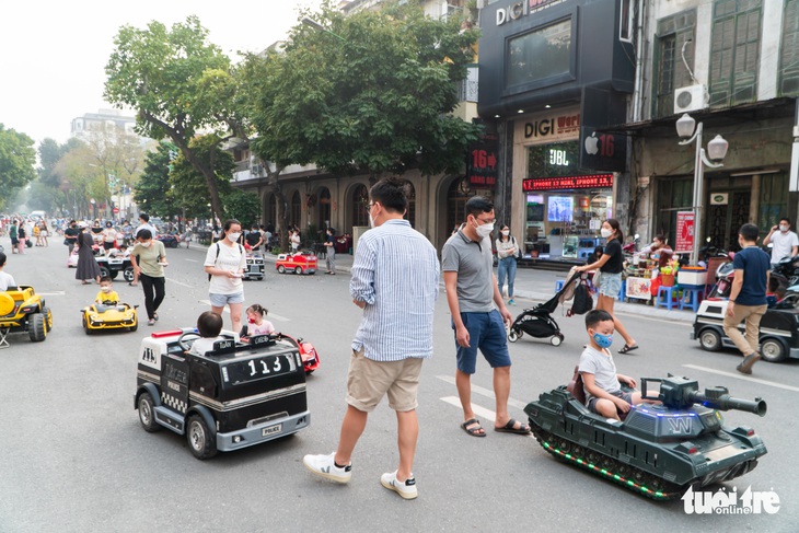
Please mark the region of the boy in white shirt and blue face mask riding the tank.
<svg viewBox="0 0 799 533"><path fill-rule="evenodd" d="M644 402L638 391L625 392L622 383L635 389L635 380L616 373L616 363L607 349L613 344L613 316L595 309L586 314L589 344L580 356L579 372L586 392L586 407L605 418L621 420L619 413L627 413L630 405Z"/></svg>

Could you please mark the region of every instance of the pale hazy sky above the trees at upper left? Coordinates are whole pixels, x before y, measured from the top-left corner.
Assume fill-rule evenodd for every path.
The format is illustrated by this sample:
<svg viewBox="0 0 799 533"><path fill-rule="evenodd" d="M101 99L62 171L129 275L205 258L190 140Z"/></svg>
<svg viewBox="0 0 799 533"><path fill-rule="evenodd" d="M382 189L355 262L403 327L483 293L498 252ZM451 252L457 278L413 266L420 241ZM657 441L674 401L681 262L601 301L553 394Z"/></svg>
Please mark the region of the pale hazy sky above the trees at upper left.
<svg viewBox="0 0 799 533"><path fill-rule="evenodd" d="M233 60L288 35L297 9L322 0L71 0L3 2L0 15L0 124L37 143L69 138L70 123L112 106L103 101L105 65L125 24L167 27L197 15L208 39ZM132 113L131 113L132 115Z"/></svg>

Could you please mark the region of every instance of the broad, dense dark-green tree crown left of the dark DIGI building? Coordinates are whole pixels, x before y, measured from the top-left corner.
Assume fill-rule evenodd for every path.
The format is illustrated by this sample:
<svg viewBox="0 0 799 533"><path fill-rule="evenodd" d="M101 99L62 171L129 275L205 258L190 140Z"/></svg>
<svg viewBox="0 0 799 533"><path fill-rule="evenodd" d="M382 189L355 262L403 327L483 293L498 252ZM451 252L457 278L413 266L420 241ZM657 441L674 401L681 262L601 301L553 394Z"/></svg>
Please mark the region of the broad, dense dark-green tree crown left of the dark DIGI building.
<svg viewBox="0 0 799 533"><path fill-rule="evenodd" d="M451 112L477 32L418 4L349 16L326 4L316 20L344 40L298 25L285 54L247 58L256 153L333 173L460 171L479 129Z"/></svg>

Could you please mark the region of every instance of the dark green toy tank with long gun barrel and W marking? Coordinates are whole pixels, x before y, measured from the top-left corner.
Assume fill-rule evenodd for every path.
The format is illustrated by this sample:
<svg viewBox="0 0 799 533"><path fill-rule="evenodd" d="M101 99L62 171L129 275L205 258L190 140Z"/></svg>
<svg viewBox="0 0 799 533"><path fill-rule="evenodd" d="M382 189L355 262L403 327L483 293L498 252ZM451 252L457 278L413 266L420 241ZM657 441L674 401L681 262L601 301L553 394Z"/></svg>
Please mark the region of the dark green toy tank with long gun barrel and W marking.
<svg viewBox="0 0 799 533"><path fill-rule="evenodd" d="M566 385L524 408L541 445L555 457L587 468L656 500L744 475L766 453L749 427L723 426L719 410L766 414L766 403L730 397L716 386L700 393L687 378L642 379L641 394L662 404L633 406L624 421L605 419Z"/></svg>

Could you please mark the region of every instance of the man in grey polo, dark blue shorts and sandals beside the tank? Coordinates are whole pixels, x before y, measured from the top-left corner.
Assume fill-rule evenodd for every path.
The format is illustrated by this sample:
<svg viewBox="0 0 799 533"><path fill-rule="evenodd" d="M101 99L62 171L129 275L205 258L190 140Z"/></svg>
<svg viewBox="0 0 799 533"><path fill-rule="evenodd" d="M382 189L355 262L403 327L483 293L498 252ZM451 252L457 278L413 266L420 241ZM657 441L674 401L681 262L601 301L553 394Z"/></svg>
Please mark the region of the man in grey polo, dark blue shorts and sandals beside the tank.
<svg viewBox="0 0 799 533"><path fill-rule="evenodd" d="M472 374L479 349L494 369L494 429L528 434L530 426L511 418L508 413L511 361L505 323L512 317L505 306L493 269L494 204L482 196L473 196L465 208L466 221L447 240L441 254L447 303L455 331L455 385L464 420L461 428L473 437L486 436L472 409Z"/></svg>

